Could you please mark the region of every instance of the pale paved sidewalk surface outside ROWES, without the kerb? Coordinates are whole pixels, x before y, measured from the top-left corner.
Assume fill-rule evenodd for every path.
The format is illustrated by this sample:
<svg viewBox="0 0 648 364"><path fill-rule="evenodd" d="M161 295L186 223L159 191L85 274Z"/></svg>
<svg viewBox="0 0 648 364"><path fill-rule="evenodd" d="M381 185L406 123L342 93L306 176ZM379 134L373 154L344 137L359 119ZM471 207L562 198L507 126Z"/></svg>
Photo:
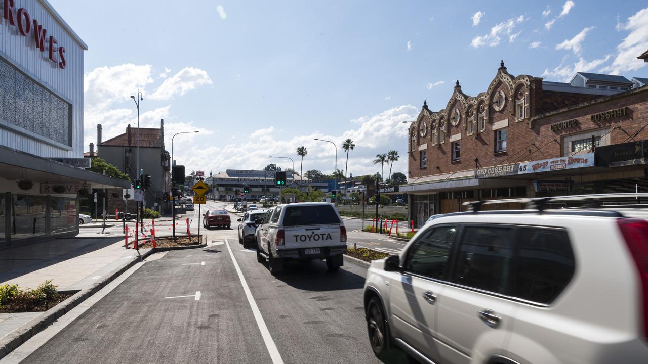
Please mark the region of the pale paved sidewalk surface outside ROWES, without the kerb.
<svg viewBox="0 0 648 364"><path fill-rule="evenodd" d="M149 249L124 249L124 239L60 238L0 249L0 285L18 284L36 288L53 280L59 291L86 290L108 279ZM45 312L0 313L0 343L3 337L29 326Z"/></svg>

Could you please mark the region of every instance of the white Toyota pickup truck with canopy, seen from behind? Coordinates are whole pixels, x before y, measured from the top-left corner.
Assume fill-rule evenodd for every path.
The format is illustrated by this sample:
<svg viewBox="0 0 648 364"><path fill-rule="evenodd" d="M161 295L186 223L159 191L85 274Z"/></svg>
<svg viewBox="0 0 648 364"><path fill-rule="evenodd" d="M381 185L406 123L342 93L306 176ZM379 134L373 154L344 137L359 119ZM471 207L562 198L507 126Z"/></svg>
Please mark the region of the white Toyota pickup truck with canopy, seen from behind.
<svg viewBox="0 0 648 364"><path fill-rule="evenodd" d="M331 203L288 203L268 210L256 220L257 260L268 260L272 274L286 260L326 260L330 271L343 265L347 229Z"/></svg>

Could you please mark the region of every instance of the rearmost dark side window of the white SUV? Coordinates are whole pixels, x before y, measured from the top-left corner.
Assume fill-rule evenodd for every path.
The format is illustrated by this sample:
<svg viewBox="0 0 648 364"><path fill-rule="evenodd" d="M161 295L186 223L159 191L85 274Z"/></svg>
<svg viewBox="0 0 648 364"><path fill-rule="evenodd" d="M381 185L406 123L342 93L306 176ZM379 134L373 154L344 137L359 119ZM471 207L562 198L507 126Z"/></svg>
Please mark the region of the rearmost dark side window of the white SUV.
<svg viewBox="0 0 648 364"><path fill-rule="evenodd" d="M550 303L572 279L574 258L567 232L559 229L520 229L513 295Z"/></svg>

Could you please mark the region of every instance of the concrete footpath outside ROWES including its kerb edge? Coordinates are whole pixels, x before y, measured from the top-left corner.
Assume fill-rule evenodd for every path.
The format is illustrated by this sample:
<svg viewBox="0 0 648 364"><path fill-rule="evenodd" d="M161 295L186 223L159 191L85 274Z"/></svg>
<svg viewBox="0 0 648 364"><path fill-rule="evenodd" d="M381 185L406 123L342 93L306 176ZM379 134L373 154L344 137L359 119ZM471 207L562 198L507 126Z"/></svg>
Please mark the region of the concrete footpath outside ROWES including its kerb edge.
<svg viewBox="0 0 648 364"><path fill-rule="evenodd" d="M0 313L0 358L148 254L150 249L124 249L120 236L77 236L0 249L0 285L24 290L51 279L58 291L78 291L46 312Z"/></svg>

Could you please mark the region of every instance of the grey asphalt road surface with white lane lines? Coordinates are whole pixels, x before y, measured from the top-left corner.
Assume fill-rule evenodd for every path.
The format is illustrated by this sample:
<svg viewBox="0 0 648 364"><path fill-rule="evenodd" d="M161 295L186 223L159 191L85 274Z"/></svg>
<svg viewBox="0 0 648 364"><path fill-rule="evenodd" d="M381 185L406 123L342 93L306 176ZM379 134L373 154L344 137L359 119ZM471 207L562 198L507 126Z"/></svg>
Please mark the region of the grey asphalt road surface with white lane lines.
<svg viewBox="0 0 648 364"><path fill-rule="evenodd" d="M207 234L207 251L146 262L23 363L380 363L364 266L291 262L273 277L235 227Z"/></svg>

